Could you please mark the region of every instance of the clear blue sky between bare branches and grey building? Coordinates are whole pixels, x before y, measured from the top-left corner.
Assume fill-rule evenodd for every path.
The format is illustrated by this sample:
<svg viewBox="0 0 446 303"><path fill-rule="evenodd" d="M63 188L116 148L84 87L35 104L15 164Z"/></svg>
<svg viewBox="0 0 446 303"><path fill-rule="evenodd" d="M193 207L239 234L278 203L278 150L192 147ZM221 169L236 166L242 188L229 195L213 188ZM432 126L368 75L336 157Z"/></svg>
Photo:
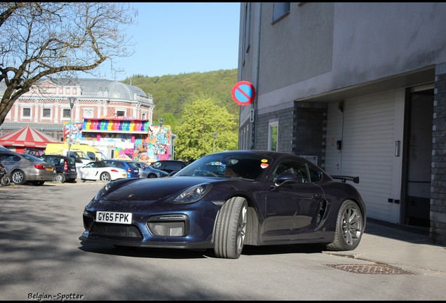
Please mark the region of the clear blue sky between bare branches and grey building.
<svg viewBox="0 0 446 303"><path fill-rule="evenodd" d="M129 27L135 53L100 68L101 78L122 81L133 74L163 76L235 69L240 3L134 3L137 25Z"/></svg>

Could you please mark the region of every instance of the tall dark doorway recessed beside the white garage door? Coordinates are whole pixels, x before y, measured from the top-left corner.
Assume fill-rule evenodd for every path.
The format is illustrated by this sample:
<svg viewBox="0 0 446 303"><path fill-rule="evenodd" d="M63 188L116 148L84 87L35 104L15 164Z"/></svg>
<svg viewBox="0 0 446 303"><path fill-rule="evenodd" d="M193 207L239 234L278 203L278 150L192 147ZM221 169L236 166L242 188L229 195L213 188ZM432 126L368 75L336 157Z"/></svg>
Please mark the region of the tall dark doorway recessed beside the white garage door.
<svg viewBox="0 0 446 303"><path fill-rule="evenodd" d="M406 100L403 222L420 227L430 226L433 95L411 88Z"/></svg>

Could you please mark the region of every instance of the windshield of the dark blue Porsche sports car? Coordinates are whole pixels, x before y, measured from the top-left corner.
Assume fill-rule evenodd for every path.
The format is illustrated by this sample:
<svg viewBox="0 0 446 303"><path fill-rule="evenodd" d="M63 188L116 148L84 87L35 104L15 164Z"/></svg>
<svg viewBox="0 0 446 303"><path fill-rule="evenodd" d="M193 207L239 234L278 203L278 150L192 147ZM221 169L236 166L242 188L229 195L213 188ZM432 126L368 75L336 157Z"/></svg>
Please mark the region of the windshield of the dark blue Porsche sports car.
<svg viewBox="0 0 446 303"><path fill-rule="evenodd" d="M264 163L271 158L258 154L221 153L203 156L186 166L175 176L241 177L255 180L262 177Z"/></svg>

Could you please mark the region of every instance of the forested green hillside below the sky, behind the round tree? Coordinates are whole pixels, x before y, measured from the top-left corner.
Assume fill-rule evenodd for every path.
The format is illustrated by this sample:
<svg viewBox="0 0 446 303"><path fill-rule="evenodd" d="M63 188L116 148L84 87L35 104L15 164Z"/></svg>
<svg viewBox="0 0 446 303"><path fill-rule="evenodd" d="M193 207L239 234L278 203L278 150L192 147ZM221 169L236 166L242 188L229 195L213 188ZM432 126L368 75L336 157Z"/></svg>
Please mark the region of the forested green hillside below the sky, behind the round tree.
<svg viewBox="0 0 446 303"><path fill-rule="evenodd" d="M155 109L153 121L165 113L182 120L185 102L211 99L215 105L225 107L238 122L239 105L232 100L231 90L237 82L237 69L220 69L214 72L189 73L165 76L134 75L122 81L151 94Z"/></svg>

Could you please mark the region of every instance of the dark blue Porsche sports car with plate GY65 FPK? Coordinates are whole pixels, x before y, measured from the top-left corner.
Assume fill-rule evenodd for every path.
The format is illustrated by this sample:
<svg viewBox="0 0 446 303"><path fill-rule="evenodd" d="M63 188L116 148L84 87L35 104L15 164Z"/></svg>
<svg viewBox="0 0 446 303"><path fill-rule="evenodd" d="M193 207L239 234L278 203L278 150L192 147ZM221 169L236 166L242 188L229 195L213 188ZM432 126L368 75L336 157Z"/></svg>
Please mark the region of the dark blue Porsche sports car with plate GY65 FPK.
<svg viewBox="0 0 446 303"><path fill-rule="evenodd" d="M222 167L224 175L210 166ZM323 243L328 250L354 250L366 208L347 181L359 178L330 177L292 154L219 152L172 177L109 182L83 210L79 239L213 249L216 257L231 259L243 245Z"/></svg>

